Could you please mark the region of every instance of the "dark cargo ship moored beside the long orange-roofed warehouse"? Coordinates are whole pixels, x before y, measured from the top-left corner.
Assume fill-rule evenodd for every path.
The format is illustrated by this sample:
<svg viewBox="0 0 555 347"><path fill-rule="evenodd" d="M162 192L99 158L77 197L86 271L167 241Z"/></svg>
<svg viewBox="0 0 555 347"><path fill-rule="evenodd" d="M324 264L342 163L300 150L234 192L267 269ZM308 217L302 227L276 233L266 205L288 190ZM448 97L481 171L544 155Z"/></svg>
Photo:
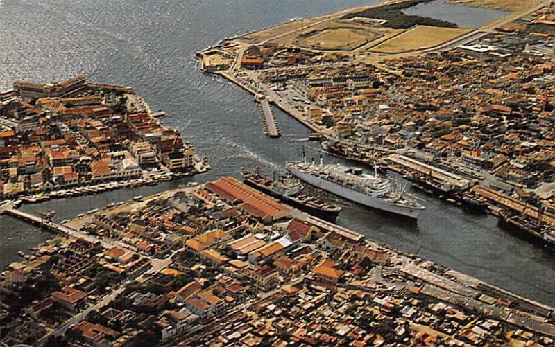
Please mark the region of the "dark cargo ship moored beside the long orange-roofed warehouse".
<svg viewBox="0 0 555 347"><path fill-rule="evenodd" d="M330 204L307 193L301 182L294 177L282 176L280 179L271 179L261 175L258 168L255 171L243 169L241 175L245 184L276 197L284 204L289 204L328 222L335 222L341 212L341 206Z"/></svg>

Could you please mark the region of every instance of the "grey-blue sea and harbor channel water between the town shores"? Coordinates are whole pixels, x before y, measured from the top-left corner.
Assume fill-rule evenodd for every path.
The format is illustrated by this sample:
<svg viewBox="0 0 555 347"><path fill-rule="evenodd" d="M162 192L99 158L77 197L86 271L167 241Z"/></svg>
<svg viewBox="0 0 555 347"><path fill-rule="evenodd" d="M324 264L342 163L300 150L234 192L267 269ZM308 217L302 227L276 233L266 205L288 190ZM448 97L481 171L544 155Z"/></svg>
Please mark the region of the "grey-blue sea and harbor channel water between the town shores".
<svg viewBox="0 0 555 347"><path fill-rule="evenodd" d="M241 35L291 18L321 15L367 5L363 0L12 0L0 1L0 89L14 80L55 81L86 75L89 80L128 84L153 110L178 128L212 170L158 186L113 190L99 195L56 199L23 206L49 208L56 220L101 208L136 195L177 188L223 175L240 177L241 167L270 173L308 157L317 143L308 130L275 109L282 132L264 134L253 96L230 82L200 71L196 51L225 37ZM480 13L472 12L472 16ZM489 19L489 18L488 18ZM334 161L325 158L325 161ZM427 209L418 224L382 215L344 200L338 223L410 253L481 278L517 294L555 305L555 255L438 199L413 192ZM0 216L0 267L17 260L17 251L49 237L33 226Z"/></svg>

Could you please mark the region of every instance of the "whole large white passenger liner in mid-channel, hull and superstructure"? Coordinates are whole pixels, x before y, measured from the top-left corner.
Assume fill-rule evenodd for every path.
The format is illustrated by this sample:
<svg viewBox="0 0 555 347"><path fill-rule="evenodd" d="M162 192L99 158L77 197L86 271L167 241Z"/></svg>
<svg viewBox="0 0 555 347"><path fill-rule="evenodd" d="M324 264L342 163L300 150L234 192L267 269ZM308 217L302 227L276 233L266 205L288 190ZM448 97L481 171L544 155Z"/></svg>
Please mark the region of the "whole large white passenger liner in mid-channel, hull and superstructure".
<svg viewBox="0 0 555 347"><path fill-rule="evenodd" d="M304 161L287 161L294 176L330 193L378 210L418 218L425 207L393 190L391 181L368 175L359 168L336 165L315 165Z"/></svg>

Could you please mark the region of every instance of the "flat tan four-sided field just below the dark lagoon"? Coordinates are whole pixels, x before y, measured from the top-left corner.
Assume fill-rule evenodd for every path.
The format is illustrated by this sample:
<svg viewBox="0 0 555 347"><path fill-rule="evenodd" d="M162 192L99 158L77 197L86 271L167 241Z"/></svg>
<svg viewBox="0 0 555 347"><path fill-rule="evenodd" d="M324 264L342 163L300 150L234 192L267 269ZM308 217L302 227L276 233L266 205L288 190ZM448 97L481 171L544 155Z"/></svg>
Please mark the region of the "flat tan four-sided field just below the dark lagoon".
<svg viewBox="0 0 555 347"><path fill-rule="evenodd" d="M386 42L374 46L372 51L377 53L403 53L416 51L443 44L456 37L470 32L463 28L438 28L435 26L416 26L411 30L388 39Z"/></svg>

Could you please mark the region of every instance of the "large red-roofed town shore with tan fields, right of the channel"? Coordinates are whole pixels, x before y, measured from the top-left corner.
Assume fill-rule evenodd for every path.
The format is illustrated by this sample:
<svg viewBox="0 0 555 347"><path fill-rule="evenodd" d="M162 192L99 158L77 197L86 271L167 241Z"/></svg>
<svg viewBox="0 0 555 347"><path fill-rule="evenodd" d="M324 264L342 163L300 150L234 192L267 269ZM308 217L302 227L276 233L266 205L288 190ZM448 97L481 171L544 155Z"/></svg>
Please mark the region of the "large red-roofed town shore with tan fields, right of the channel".
<svg viewBox="0 0 555 347"><path fill-rule="evenodd" d="M408 4L377 8L395 6ZM416 18L415 26L402 28L371 20L382 13L373 11L340 12L301 26L293 21L223 40L198 56L204 71L306 125L323 151L399 172L415 188L469 211L488 211L506 229L553 246L552 2L513 8L452 36L452 25ZM377 28L385 34L366 37L364 49L343 35L350 31L356 40L355 32ZM422 35L419 47L402 38ZM522 208L505 203L511 199Z"/></svg>

